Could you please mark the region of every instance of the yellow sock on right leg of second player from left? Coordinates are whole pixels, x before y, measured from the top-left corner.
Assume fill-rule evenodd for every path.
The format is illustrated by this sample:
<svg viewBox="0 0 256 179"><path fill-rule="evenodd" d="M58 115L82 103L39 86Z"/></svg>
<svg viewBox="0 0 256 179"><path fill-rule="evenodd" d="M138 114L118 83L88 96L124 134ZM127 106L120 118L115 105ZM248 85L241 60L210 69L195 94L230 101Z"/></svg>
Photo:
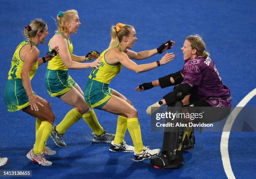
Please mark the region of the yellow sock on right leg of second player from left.
<svg viewBox="0 0 256 179"><path fill-rule="evenodd" d="M95 133L97 136L103 134L104 130L101 127L94 110L90 110L89 112L85 113L83 115L83 119L87 123L87 125L89 125L89 127L92 129L93 133Z"/></svg>

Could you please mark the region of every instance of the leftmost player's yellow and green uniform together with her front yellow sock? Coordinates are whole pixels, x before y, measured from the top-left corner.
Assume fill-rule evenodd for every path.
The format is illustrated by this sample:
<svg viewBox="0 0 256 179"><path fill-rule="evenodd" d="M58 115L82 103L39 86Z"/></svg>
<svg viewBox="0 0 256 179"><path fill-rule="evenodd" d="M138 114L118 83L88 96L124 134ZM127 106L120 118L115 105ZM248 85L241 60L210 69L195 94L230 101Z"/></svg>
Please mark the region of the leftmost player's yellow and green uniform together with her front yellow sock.
<svg viewBox="0 0 256 179"><path fill-rule="evenodd" d="M8 73L8 79L4 87L4 100L8 107L8 111L14 112L25 109L30 105L28 95L23 87L21 81L21 71L23 69L24 61L20 58L20 50L27 45L36 46L33 42L23 41L19 44L13 54L12 64ZM30 53L28 51L28 53ZM38 68L38 61L36 61L29 72L30 80L34 77ZM36 95L34 93L34 95ZM33 147L34 153L41 153L44 151L44 146L50 136L52 124L48 121L41 121L36 119L36 141Z"/></svg>

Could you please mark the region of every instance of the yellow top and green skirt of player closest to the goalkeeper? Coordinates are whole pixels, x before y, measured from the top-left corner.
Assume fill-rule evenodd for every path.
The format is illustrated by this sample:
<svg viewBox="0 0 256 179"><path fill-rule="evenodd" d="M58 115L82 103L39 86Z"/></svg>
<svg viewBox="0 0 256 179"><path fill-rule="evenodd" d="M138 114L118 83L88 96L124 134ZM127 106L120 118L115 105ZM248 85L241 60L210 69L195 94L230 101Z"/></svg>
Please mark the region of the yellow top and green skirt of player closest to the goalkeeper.
<svg viewBox="0 0 256 179"><path fill-rule="evenodd" d="M120 50L120 49L119 49ZM94 68L89 75L89 79L84 88L84 99L89 107L102 109L112 96L108 87L111 80L120 72L122 64L109 64L105 59L105 54L109 49L102 52L99 69Z"/></svg>

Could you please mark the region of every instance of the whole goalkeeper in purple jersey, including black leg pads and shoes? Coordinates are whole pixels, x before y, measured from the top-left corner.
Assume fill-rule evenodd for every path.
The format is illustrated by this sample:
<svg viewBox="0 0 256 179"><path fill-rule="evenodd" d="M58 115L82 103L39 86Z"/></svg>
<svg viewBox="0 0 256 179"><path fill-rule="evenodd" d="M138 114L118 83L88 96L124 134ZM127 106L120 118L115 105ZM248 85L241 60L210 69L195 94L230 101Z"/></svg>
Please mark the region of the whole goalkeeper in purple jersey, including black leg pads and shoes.
<svg viewBox="0 0 256 179"><path fill-rule="evenodd" d="M144 91L155 86L165 88L175 85L173 92L164 95L162 100L147 108L148 115L151 116L164 105L174 106L177 101L185 100L184 97L187 95L190 95L189 104L185 106L214 107L210 113L208 112L207 119L204 119L205 123L222 120L230 113L230 90L223 84L214 62L209 57L210 54L205 49L205 43L199 35L188 36L181 48L184 54L183 68L176 73L166 75L153 82L143 83L136 88L137 91ZM183 101L183 103L185 102ZM192 127L187 127L183 133L178 134L179 142L176 141L177 138L173 139L170 135L172 134L164 134L162 154L151 159L151 164L156 168L179 168L183 164L181 150L194 147L195 136ZM176 157L164 153L164 146L174 146L173 148L167 147L166 151L175 153Z"/></svg>

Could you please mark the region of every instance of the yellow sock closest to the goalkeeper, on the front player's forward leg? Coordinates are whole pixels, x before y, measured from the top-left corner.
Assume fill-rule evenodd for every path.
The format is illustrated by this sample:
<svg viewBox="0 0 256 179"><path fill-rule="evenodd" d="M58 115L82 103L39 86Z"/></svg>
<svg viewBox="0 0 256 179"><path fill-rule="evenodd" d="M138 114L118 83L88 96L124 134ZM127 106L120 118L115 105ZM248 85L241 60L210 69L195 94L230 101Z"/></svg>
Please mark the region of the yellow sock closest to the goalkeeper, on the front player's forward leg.
<svg viewBox="0 0 256 179"><path fill-rule="evenodd" d="M138 118L127 119L127 128L133 140L133 145L136 153L141 153L143 150L143 143L141 139L141 127Z"/></svg>

